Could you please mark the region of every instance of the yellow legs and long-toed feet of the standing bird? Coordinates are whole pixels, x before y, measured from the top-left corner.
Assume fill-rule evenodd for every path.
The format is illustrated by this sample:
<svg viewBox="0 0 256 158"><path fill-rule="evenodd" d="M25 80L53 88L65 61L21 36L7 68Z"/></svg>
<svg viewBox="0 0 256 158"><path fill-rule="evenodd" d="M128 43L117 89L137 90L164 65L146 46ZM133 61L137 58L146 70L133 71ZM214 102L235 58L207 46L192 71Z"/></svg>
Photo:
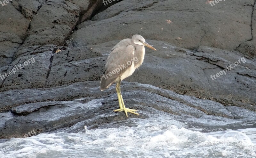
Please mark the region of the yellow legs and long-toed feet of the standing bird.
<svg viewBox="0 0 256 158"><path fill-rule="evenodd" d="M126 114L126 117L128 117L127 112L130 112L130 113L139 115L138 113L135 112L135 111L137 111L137 110L125 108L125 106L124 106L124 100L123 100L123 97L122 97L122 94L121 94L121 90L120 90L120 82L121 82L121 81L119 80L119 81L116 83L116 93L117 93L118 102L119 102L119 109L114 110L114 111L115 111L115 112L117 112L117 111L124 111L125 114Z"/></svg>

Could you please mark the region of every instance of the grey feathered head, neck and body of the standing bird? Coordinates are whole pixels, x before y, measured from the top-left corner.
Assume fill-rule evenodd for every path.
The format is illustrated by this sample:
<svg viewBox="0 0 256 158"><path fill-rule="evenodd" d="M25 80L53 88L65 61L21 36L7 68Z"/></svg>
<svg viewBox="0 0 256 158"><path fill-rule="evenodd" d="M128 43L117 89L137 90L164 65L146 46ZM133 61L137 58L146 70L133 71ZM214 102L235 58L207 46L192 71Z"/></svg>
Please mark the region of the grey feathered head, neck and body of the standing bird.
<svg viewBox="0 0 256 158"><path fill-rule="evenodd" d="M138 45L138 43L140 43L139 40L145 42L145 39L142 36L133 35L132 39L123 39L111 49L105 65L105 73L101 77L100 90L105 90L111 86L112 83L117 82L123 73L131 66L134 66L135 69L140 67L144 60L145 48L142 43L141 45ZM136 58L136 62L134 62L133 58ZM132 65L132 63L129 65L129 61L134 65ZM119 72L118 68L120 69ZM130 68L130 70L133 69ZM111 76L109 73L111 73ZM121 80L123 79L124 78Z"/></svg>

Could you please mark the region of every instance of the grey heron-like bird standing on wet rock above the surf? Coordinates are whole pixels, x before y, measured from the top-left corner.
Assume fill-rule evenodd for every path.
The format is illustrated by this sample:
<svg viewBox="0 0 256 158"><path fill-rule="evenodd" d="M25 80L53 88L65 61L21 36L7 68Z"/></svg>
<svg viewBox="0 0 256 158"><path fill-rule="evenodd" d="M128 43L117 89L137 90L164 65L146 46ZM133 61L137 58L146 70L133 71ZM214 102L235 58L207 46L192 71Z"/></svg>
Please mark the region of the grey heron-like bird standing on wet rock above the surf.
<svg viewBox="0 0 256 158"><path fill-rule="evenodd" d="M141 66L145 56L144 46L156 51L156 49L149 45L142 36L137 34L133 35L132 39L123 39L117 43L109 52L104 68L105 72L100 81L101 91L108 89L109 86L116 83L119 109L114 111L124 111L127 118L127 112L136 115L139 114L136 113L137 110L125 108L120 84L122 80L131 76L133 72Z"/></svg>

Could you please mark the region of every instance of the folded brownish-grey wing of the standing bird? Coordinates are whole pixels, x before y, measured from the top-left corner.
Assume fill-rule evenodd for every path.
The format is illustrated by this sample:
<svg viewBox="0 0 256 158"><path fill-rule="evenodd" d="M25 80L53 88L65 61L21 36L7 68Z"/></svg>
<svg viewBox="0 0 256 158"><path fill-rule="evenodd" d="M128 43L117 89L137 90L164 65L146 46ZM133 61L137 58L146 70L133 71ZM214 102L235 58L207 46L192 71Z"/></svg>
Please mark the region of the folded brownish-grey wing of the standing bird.
<svg viewBox="0 0 256 158"><path fill-rule="evenodd" d="M115 80L122 75L133 62L134 48L132 45L114 47L108 55L105 73L101 77L100 90L107 89Z"/></svg>

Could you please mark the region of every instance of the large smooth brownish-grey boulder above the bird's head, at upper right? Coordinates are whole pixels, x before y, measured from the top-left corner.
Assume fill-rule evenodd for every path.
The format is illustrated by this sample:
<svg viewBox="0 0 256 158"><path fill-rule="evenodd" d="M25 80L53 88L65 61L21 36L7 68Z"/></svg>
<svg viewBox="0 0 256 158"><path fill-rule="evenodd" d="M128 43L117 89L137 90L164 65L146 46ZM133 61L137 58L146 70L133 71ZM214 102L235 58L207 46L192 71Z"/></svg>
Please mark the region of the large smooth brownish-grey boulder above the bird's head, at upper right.
<svg viewBox="0 0 256 158"><path fill-rule="evenodd" d="M121 1L94 16L92 20L98 21L93 25L74 32L71 42L81 47L140 34L145 39L163 40L191 50L200 45L234 50L252 39L253 4L252 0L223 2L214 7L199 1Z"/></svg>

